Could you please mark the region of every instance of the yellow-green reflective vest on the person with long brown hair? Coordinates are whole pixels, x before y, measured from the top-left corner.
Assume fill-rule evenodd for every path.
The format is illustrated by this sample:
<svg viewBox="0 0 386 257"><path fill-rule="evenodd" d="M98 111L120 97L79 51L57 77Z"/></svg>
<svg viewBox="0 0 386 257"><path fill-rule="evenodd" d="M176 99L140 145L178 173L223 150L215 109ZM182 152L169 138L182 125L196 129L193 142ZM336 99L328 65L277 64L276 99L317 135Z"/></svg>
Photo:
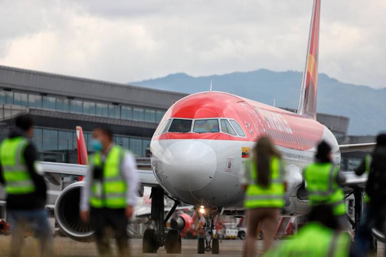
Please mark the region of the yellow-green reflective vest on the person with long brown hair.
<svg viewBox="0 0 386 257"><path fill-rule="evenodd" d="M250 172L250 181L245 192L245 209L253 208L283 208L284 207L284 169L277 157L271 157L269 169L271 183L265 188L256 183L259 175L256 162L245 161L246 172Z"/></svg>

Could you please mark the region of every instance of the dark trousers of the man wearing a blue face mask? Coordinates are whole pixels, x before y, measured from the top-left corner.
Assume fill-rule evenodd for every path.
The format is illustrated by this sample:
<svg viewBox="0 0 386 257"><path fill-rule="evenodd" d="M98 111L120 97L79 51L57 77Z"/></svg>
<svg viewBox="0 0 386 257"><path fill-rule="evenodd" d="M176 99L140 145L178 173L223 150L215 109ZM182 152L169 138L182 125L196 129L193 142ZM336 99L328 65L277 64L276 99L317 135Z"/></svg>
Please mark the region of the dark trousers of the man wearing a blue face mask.
<svg viewBox="0 0 386 257"><path fill-rule="evenodd" d="M128 219L125 216L125 209L92 208L90 221L95 230L95 239L99 255L110 256L109 235L106 232L110 227L114 233L120 256L128 256Z"/></svg>

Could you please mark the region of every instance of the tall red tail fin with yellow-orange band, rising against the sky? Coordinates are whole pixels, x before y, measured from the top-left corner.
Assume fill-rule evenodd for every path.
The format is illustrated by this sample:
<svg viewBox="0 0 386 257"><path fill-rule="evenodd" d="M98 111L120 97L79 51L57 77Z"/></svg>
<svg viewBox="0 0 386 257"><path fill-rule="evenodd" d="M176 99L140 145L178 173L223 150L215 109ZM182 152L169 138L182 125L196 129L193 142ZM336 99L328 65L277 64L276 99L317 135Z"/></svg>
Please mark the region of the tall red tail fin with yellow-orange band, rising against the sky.
<svg viewBox="0 0 386 257"><path fill-rule="evenodd" d="M308 39L306 64L303 73L300 102L297 114L316 119L316 96L318 89L318 54L320 2L314 0L312 9L310 35Z"/></svg>

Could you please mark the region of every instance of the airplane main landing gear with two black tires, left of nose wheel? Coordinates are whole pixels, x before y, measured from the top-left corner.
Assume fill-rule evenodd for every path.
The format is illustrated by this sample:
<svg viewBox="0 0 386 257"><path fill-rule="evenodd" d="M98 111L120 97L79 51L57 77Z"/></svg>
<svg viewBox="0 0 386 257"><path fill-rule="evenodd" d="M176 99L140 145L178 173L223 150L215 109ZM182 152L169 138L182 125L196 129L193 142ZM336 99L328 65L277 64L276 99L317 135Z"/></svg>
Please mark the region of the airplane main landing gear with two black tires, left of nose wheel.
<svg viewBox="0 0 386 257"><path fill-rule="evenodd" d="M171 229L166 234L166 222L174 213L179 201L165 217L164 191L161 187L151 188L151 219L155 220L157 229L147 228L142 242L142 252L156 254L157 250L164 246L168 254L181 254L181 234L178 229Z"/></svg>

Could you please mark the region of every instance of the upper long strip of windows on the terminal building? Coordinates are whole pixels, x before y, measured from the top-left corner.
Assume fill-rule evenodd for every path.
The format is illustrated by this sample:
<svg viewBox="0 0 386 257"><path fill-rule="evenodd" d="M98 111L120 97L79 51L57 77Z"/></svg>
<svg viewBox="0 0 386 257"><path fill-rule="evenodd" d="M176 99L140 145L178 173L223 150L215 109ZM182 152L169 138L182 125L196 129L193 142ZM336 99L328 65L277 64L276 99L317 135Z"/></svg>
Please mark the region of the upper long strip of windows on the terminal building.
<svg viewBox="0 0 386 257"><path fill-rule="evenodd" d="M0 104L15 104L35 109L151 123L159 123L165 114L165 110L68 99L63 96L27 94L1 89Z"/></svg>

